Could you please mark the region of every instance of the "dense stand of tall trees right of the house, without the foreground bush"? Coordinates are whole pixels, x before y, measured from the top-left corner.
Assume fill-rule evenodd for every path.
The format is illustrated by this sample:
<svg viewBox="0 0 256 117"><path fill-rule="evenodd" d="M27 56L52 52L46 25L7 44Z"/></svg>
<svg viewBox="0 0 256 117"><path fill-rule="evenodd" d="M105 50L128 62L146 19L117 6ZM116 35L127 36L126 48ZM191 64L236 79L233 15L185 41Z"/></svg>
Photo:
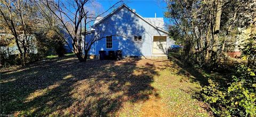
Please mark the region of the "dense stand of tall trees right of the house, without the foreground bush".
<svg viewBox="0 0 256 117"><path fill-rule="evenodd" d="M241 30L255 34L256 2L254 0L171 0L166 1L173 23L170 36L180 42L183 56L201 67L217 68L227 52L233 51Z"/></svg>

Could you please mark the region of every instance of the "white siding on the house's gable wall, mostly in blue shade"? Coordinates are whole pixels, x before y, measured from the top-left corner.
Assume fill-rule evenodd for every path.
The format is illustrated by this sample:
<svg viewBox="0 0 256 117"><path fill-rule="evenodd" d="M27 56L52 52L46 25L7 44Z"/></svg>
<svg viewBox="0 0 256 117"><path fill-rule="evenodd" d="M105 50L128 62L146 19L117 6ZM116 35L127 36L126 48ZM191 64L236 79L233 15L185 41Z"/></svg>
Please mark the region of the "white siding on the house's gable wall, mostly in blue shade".
<svg viewBox="0 0 256 117"><path fill-rule="evenodd" d="M99 37L121 35L115 36L115 41L111 41L111 48L107 46L110 45L110 42L107 43L107 40L103 39L97 41L97 46L95 47L97 48L97 51L95 51L97 55L99 50L107 49L122 50L123 56L152 56L153 38L155 36L165 37L164 40L160 40L160 46L163 44L163 49L167 46L165 44L167 39L170 39L167 37L166 33L149 25L137 15L130 12L126 7L123 7L121 10L105 19L101 24L95 26L95 32L97 32ZM158 39L157 42L159 44ZM162 51L161 54L163 54Z"/></svg>

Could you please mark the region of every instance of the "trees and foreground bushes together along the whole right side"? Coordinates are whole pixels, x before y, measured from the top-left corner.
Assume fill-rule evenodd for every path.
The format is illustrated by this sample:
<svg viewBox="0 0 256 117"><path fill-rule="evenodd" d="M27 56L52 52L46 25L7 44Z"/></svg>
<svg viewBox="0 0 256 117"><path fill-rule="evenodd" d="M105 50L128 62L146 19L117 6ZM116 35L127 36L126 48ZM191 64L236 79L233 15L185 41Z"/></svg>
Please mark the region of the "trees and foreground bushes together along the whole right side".
<svg viewBox="0 0 256 117"><path fill-rule="evenodd" d="M202 87L199 98L217 116L256 116L256 1L170 0L166 3L165 16L172 22L170 37L183 46L179 57L188 65L223 70L223 66L227 67L227 52L238 49L242 53L237 65L232 67L234 71L225 69L229 81L221 85L208 80L209 85Z"/></svg>

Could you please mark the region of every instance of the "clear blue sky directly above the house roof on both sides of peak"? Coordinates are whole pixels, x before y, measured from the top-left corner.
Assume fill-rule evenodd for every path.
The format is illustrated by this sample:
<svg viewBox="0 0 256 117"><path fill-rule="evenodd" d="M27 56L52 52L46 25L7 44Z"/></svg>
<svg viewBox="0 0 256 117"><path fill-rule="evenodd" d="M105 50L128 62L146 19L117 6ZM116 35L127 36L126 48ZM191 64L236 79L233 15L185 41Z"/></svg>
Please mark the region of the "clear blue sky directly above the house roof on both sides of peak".
<svg viewBox="0 0 256 117"><path fill-rule="evenodd" d="M107 10L109 7L114 5L118 1L97 1L104 10ZM135 0L126 0L124 3L132 9L135 9L136 12L142 17L164 17L164 12L166 11L166 4L163 1L135 1ZM164 18L165 23L169 23L168 19Z"/></svg>

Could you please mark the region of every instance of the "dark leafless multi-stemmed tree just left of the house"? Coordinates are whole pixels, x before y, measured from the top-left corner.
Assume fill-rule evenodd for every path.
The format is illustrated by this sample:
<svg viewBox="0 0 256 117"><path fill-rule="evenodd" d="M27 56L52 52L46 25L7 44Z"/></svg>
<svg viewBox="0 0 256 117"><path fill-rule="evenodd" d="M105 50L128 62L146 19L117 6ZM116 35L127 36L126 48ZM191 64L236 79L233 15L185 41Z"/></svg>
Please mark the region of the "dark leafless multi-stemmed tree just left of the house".
<svg viewBox="0 0 256 117"><path fill-rule="evenodd" d="M82 29L84 28L84 32L86 32L87 29L89 29L90 24L95 21L97 17L102 16L121 2L122 1L115 3L113 6L108 8L108 10L98 15L94 14L92 10L88 8L88 6L92 3L92 1L89 0L65 2L46 0L46 2L43 2L43 4L45 4L53 15L61 22L63 29L65 29L73 41L72 47L74 53L76 54L78 60L82 62L86 61L87 53L91 49L92 44L95 41L104 38L95 36L91 41L83 41L86 39L82 38Z"/></svg>

